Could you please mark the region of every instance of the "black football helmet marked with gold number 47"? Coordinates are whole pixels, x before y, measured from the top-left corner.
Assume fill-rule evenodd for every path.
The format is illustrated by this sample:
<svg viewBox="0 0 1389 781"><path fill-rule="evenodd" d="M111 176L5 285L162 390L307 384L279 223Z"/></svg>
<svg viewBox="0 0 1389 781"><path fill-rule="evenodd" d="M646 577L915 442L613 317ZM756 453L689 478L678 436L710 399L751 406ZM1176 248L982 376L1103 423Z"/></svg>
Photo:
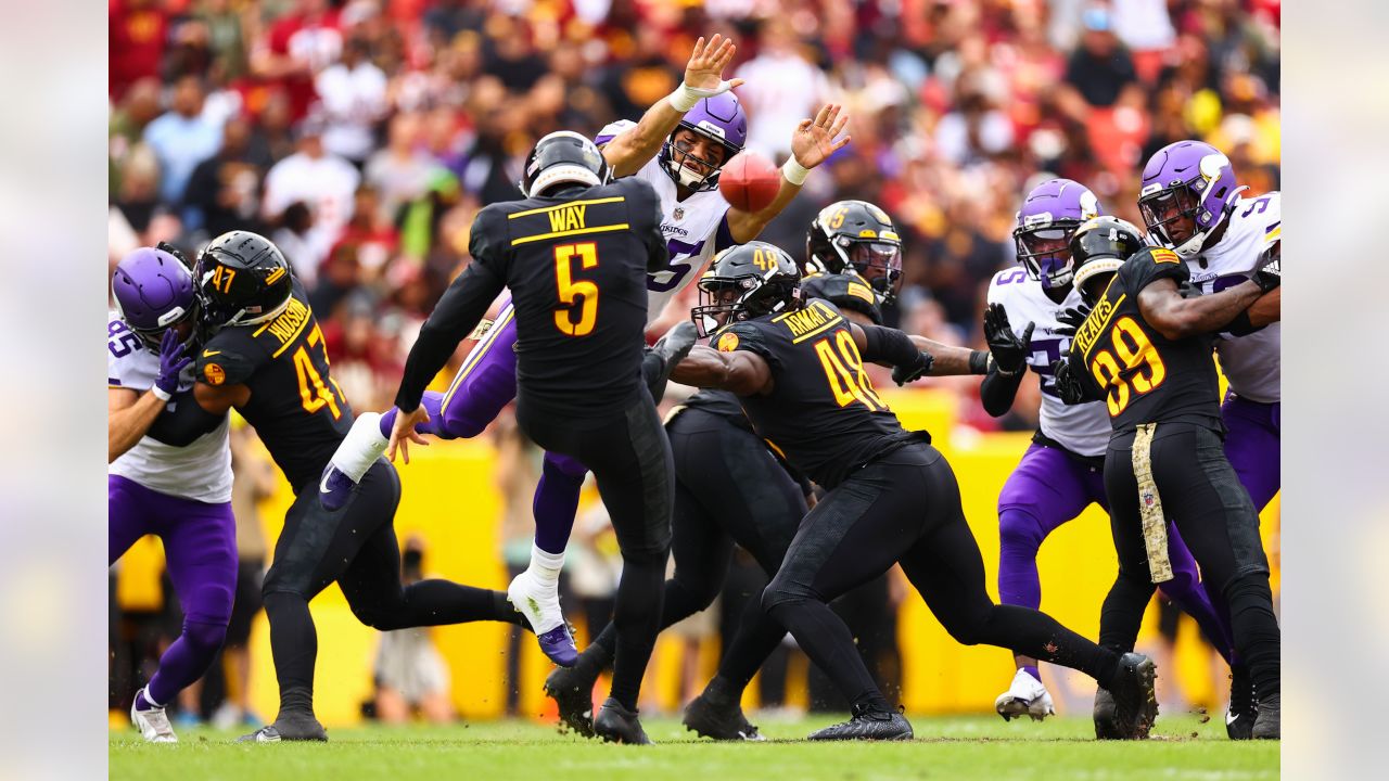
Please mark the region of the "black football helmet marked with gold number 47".
<svg viewBox="0 0 1389 781"><path fill-rule="evenodd" d="M203 329L254 325L289 304L293 271L285 254L260 233L229 231L197 256L193 281L203 307Z"/></svg>

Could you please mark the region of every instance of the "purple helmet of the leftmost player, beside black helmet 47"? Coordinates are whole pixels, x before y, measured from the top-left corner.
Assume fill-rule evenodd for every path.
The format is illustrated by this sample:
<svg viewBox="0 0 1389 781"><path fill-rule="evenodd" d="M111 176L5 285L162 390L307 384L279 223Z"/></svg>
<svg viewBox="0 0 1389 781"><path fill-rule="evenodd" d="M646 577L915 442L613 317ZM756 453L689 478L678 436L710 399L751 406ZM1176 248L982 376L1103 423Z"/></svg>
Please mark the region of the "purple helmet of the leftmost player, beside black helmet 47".
<svg viewBox="0 0 1389 781"><path fill-rule="evenodd" d="M193 272L156 247L140 247L121 258L111 275L111 297L121 320L153 349L158 349L164 331L197 313Z"/></svg>

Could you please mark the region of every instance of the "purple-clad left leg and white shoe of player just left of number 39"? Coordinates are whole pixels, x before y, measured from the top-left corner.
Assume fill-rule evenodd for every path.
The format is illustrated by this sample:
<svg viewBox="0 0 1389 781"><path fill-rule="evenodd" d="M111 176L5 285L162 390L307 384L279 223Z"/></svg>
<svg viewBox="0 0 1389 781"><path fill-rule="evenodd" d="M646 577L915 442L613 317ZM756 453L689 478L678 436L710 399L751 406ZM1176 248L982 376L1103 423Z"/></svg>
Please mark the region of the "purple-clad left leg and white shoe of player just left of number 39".
<svg viewBox="0 0 1389 781"><path fill-rule="evenodd" d="M1056 447L1033 443L999 493L999 602L1033 610L1042 606L1038 549L1061 524L1095 500L1086 464ZM1036 659L1014 657L1017 673L995 707L1004 718L1056 713L1042 685Z"/></svg>

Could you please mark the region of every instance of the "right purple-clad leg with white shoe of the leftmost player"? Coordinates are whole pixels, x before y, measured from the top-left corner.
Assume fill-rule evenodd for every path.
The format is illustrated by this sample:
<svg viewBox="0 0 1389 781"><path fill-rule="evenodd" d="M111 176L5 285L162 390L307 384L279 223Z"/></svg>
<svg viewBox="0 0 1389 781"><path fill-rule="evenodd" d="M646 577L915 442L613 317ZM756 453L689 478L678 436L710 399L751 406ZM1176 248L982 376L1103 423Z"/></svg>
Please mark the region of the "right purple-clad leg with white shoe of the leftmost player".
<svg viewBox="0 0 1389 781"><path fill-rule="evenodd" d="M147 510L160 518L165 567L183 607L183 627L160 657L149 685L136 693L132 709L136 716L163 712L207 673L226 639L236 593L236 520L231 503L150 493ZM143 724L142 731L149 739Z"/></svg>

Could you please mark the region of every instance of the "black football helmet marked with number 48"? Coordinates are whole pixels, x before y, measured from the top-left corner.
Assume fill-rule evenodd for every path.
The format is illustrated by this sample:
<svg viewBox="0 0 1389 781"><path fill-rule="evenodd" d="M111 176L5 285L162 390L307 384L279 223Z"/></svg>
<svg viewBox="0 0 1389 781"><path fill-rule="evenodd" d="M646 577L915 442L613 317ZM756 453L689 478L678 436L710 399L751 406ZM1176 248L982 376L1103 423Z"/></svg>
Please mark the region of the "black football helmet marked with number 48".
<svg viewBox="0 0 1389 781"><path fill-rule="evenodd" d="M700 338L738 322L800 306L800 270L789 254L767 242L729 247L699 281L699 306L690 318Z"/></svg>

